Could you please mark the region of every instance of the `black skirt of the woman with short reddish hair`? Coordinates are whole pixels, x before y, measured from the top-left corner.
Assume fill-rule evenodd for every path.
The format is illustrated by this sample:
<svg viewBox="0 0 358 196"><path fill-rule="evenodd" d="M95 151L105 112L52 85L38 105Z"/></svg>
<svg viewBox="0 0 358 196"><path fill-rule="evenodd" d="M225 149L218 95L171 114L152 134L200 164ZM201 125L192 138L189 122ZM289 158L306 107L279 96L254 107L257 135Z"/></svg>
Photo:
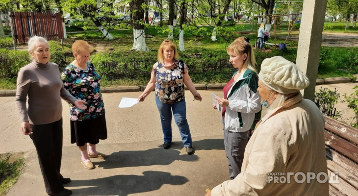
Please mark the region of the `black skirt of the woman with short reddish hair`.
<svg viewBox="0 0 358 196"><path fill-rule="evenodd" d="M85 121L71 121L71 144L78 147L86 143L98 144L101 140L107 139L107 125L105 115Z"/></svg>

